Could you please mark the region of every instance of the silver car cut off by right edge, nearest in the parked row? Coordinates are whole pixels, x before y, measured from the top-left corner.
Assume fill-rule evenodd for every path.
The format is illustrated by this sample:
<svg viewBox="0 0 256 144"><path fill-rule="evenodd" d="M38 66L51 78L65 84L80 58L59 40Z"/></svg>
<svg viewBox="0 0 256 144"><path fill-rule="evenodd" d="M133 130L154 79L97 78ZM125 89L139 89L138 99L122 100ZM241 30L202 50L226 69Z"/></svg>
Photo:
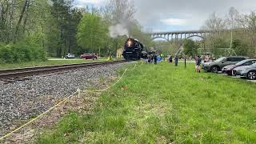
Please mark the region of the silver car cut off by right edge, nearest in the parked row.
<svg viewBox="0 0 256 144"><path fill-rule="evenodd" d="M234 75L239 75L242 78L256 80L256 63L251 66L240 66L233 70Z"/></svg>

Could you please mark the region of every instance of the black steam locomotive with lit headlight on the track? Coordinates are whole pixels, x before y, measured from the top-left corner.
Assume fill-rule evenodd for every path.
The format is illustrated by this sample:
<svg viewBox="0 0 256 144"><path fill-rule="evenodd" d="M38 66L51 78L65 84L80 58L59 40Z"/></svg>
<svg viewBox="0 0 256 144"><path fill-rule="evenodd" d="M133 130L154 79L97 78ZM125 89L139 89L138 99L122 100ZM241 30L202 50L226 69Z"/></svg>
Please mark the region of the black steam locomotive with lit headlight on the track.
<svg viewBox="0 0 256 144"><path fill-rule="evenodd" d="M141 58L146 58L146 52L143 51L144 46L137 39L128 38L126 40L122 56L126 60L138 60Z"/></svg>

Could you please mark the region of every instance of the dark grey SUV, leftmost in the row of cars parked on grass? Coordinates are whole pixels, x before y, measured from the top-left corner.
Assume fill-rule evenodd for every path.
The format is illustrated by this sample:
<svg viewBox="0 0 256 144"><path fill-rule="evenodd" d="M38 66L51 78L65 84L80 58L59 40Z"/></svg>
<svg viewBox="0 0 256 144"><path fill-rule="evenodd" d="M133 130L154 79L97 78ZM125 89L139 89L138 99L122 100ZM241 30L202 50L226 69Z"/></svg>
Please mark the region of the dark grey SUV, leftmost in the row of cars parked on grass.
<svg viewBox="0 0 256 144"><path fill-rule="evenodd" d="M222 57L218 58L214 62L206 62L202 64L202 69L206 71L211 71L217 73L221 71L224 66L234 65L237 62L245 60L245 57Z"/></svg>

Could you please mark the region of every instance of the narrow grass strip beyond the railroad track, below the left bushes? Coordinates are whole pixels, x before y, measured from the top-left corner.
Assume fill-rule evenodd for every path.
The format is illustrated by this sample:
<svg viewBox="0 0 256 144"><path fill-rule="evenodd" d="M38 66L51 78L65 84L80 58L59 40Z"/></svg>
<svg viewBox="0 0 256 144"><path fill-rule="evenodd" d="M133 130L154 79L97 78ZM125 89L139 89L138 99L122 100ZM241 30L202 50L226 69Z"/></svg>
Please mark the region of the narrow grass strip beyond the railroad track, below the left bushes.
<svg viewBox="0 0 256 144"><path fill-rule="evenodd" d="M106 59L98 59L93 61L93 60L85 60L85 59L50 58L45 62L35 61L35 62L0 64L0 70L33 67L33 66L53 66L53 65L77 64L77 63L85 63L85 62L104 62L104 61L106 61Z"/></svg>

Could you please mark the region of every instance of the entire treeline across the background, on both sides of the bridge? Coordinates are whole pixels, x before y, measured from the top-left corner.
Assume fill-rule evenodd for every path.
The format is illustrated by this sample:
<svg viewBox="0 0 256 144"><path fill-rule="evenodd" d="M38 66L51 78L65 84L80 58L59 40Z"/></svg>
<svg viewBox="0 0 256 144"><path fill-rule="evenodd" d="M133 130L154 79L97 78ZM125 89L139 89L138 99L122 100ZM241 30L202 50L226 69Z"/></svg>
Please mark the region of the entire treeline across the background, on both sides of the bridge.
<svg viewBox="0 0 256 144"><path fill-rule="evenodd" d="M74 0L0 0L0 62L45 60L67 53L104 56L110 51L114 54L127 37L137 38L159 53L177 52L180 43L152 42L134 18L135 13L130 0L107 0L101 7L81 8ZM199 42L182 40L186 54L256 56L254 11L242 14L231 7L225 17L210 14L202 30L214 33Z"/></svg>

